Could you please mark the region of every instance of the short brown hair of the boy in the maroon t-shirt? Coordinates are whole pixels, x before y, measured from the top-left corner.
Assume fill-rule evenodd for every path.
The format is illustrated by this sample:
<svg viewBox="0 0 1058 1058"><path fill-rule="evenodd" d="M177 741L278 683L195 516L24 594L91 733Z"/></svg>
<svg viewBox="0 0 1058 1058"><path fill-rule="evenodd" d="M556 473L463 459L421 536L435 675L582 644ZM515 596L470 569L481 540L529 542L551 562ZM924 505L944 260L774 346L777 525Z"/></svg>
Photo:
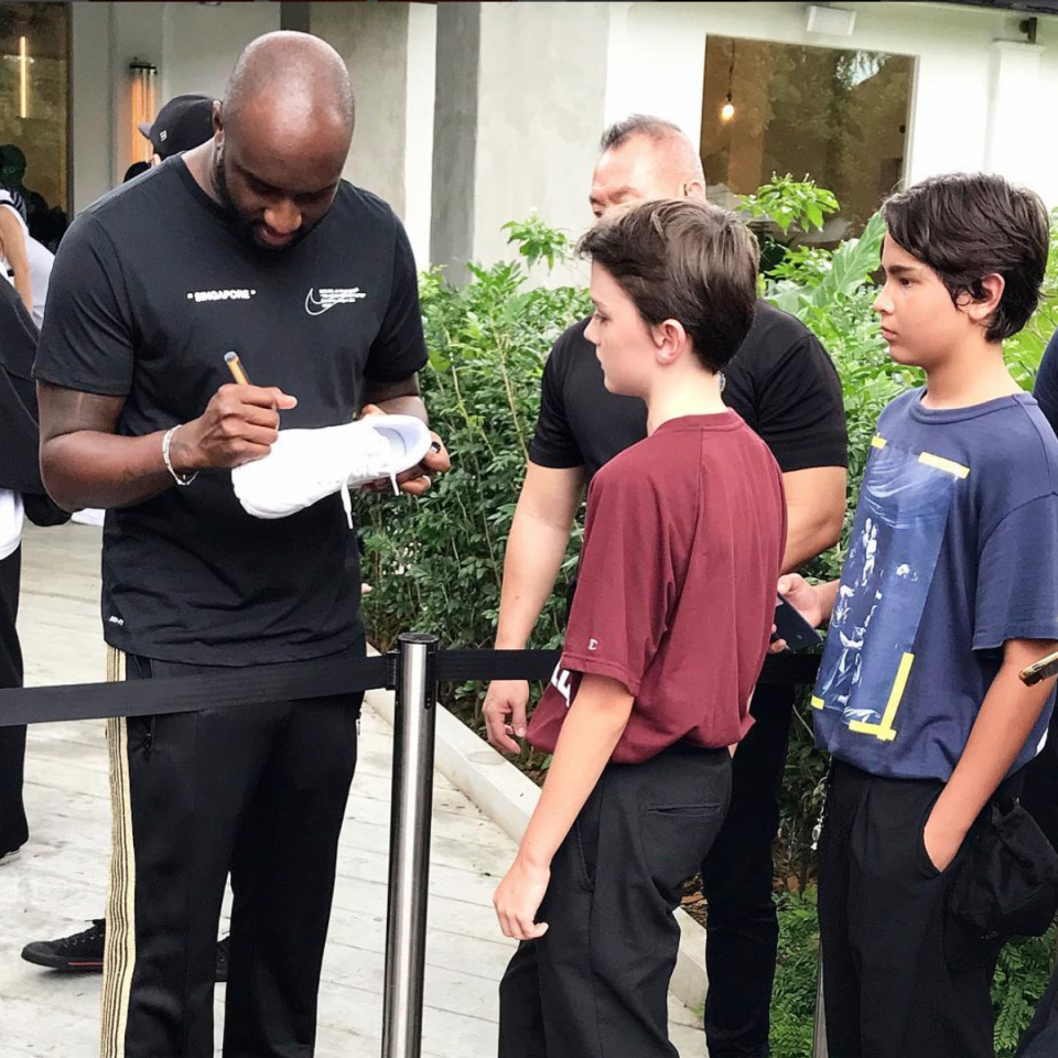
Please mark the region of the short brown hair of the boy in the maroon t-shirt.
<svg viewBox="0 0 1058 1058"><path fill-rule="evenodd" d="M711 371L753 323L759 249L733 213L692 198L640 202L600 220L579 250L605 268L649 326L678 320Z"/></svg>

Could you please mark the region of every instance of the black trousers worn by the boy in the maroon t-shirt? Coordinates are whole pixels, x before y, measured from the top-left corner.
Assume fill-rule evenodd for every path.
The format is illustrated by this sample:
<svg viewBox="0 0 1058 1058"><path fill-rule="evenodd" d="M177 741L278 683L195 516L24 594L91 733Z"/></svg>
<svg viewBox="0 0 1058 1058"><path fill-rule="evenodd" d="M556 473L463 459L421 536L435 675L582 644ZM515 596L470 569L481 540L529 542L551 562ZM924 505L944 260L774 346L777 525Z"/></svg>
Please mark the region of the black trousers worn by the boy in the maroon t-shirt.
<svg viewBox="0 0 1058 1058"><path fill-rule="evenodd" d="M726 749L609 765L551 864L539 940L499 986L500 1058L678 1058L673 910L731 796Z"/></svg>

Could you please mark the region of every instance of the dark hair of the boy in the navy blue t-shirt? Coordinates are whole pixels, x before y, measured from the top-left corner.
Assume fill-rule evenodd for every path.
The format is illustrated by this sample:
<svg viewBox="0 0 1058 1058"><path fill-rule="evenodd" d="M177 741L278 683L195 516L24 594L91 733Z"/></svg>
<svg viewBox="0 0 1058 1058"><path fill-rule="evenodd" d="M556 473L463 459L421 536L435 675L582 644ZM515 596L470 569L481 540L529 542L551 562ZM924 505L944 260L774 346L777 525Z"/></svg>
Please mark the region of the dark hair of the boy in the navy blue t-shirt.
<svg viewBox="0 0 1058 1058"><path fill-rule="evenodd" d="M984 277L1003 277L989 342L1025 326L1047 269L1050 225L1039 195L1002 176L949 173L893 195L883 209L893 239L937 273L954 304L964 294L982 300Z"/></svg>

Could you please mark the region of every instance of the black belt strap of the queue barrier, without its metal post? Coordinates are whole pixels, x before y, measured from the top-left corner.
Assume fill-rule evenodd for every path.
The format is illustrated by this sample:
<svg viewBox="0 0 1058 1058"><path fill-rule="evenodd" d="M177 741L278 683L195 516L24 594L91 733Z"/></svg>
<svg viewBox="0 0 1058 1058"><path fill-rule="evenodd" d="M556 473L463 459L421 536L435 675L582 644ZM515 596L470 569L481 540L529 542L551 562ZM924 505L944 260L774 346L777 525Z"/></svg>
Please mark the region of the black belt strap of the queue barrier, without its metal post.
<svg viewBox="0 0 1058 1058"><path fill-rule="evenodd" d="M439 683L547 680L558 650L442 650ZM110 716L161 716L203 709L332 698L397 687L397 652L377 658L315 658L247 666L208 676L175 676L120 683L67 683L0 691L0 727ZM768 657L762 683L812 683L818 655Z"/></svg>

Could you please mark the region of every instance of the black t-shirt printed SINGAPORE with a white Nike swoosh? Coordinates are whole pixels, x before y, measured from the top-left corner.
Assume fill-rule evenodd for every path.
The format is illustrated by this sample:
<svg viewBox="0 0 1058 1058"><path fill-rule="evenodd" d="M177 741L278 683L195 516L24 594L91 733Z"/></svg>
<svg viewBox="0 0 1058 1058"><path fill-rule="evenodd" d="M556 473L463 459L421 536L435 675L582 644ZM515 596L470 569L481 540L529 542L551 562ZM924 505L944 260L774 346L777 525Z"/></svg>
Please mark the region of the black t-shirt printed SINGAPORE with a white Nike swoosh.
<svg viewBox="0 0 1058 1058"><path fill-rule="evenodd" d="M331 427L364 379L427 360L415 266L381 199L344 183L302 241L259 249L181 158L85 210L55 259L35 375L126 398L118 432L202 414L230 376L298 398L282 427ZM255 665L337 652L361 634L356 535L341 500L276 521L240 507L228 471L107 515L102 619L132 654Z"/></svg>

